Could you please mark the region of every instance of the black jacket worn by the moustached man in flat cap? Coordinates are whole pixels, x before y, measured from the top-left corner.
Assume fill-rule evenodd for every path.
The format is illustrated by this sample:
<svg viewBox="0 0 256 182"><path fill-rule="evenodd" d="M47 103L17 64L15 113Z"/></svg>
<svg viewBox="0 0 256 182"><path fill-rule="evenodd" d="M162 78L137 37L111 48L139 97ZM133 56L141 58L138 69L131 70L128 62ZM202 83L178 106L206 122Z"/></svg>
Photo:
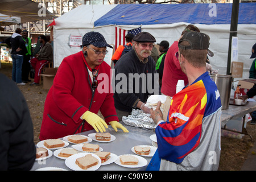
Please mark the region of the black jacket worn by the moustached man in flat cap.
<svg viewBox="0 0 256 182"><path fill-rule="evenodd" d="M158 76L155 70L155 61L151 56L148 56L148 62L143 64L139 61L133 49L117 61L114 69L114 101L115 108L118 110L130 112L133 108L137 107L139 100L145 103L148 96L161 94L158 77L155 78L156 75ZM117 75L125 76L126 78L124 79L126 80L120 79ZM135 76L135 78L129 80L131 76ZM143 78L143 76L146 78ZM138 79L139 77L141 78ZM152 78L152 80L148 78Z"/></svg>

